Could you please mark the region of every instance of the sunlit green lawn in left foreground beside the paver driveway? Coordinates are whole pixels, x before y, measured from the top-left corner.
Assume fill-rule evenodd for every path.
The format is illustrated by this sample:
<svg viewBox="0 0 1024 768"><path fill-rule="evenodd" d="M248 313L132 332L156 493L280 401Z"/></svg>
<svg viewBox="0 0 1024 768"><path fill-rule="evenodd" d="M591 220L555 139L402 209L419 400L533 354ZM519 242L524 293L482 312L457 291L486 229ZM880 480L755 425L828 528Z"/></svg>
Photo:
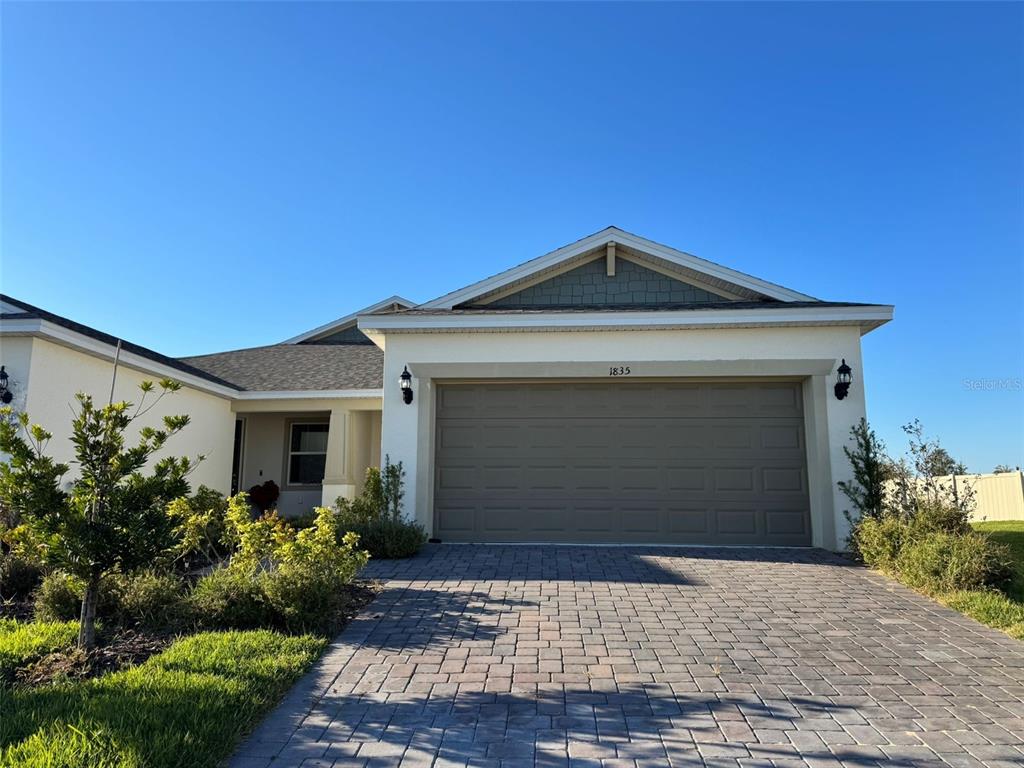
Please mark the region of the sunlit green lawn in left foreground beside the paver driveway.
<svg viewBox="0 0 1024 768"><path fill-rule="evenodd" d="M325 644L266 630L210 632L93 680L0 688L0 766L215 766Z"/></svg>

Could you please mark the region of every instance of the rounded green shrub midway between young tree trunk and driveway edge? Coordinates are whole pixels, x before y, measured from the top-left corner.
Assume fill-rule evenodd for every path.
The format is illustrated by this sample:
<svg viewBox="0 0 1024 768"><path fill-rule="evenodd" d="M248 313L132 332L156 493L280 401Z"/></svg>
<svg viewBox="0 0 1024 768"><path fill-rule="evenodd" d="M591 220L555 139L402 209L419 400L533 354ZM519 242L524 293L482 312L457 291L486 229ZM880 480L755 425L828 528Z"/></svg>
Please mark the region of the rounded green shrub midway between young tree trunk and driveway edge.
<svg viewBox="0 0 1024 768"><path fill-rule="evenodd" d="M188 596L188 610L206 629L247 630L273 623L273 612L256 581L227 567L203 577Z"/></svg>

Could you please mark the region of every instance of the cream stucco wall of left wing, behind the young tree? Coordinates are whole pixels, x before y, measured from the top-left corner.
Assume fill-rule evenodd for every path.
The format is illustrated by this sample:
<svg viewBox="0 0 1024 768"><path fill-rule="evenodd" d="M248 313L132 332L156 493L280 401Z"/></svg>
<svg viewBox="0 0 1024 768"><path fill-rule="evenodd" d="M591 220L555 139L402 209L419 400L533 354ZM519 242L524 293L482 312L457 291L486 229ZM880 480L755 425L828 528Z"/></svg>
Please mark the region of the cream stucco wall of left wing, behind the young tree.
<svg viewBox="0 0 1024 768"><path fill-rule="evenodd" d="M29 413L34 423L53 433L48 453L58 461L74 458L71 443L72 409L77 406L75 394L85 392L105 404L111 393L113 365L70 347L38 337L0 337L0 359L6 367L11 386L17 388L14 401L18 410ZM121 366L114 391L115 400L138 402L142 381L159 377ZM159 386L157 387L159 392ZM147 395L152 402L156 393ZM230 401L189 386L165 396L152 411L133 425L129 435L137 436L144 426L161 426L162 418L172 414L187 414L191 422L172 437L156 458L162 456L206 456L189 475L191 486L209 485L221 493L230 489L231 436L234 416ZM75 475L74 465L68 479Z"/></svg>

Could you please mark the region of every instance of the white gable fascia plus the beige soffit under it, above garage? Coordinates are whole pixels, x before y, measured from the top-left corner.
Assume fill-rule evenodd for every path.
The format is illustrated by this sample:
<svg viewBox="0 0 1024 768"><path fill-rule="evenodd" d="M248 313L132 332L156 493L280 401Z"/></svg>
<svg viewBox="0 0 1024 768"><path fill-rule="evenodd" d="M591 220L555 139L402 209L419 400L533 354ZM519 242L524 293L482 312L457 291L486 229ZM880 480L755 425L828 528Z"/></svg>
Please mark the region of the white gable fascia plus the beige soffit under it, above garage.
<svg viewBox="0 0 1024 768"><path fill-rule="evenodd" d="M674 273L677 280L732 300L745 301L816 301L814 297L782 286L729 269L683 251L663 246L615 226L609 226L583 240L539 256L471 286L453 291L420 306L428 309L451 309L457 306L486 303L488 297L508 293L521 285L553 278L559 272L580 266L613 244L617 255L630 258L657 271Z"/></svg>

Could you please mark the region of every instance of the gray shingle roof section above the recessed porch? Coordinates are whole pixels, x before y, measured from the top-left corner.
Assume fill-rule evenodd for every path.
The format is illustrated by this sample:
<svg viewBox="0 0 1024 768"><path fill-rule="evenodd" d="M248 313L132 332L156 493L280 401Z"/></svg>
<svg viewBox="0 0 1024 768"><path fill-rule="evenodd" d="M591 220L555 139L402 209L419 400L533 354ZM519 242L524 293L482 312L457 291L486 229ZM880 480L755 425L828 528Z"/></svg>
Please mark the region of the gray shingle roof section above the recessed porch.
<svg viewBox="0 0 1024 768"><path fill-rule="evenodd" d="M373 344L271 344L182 357L252 391L380 389L384 352Z"/></svg>

